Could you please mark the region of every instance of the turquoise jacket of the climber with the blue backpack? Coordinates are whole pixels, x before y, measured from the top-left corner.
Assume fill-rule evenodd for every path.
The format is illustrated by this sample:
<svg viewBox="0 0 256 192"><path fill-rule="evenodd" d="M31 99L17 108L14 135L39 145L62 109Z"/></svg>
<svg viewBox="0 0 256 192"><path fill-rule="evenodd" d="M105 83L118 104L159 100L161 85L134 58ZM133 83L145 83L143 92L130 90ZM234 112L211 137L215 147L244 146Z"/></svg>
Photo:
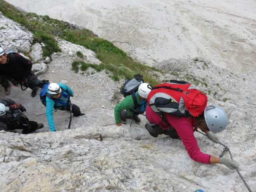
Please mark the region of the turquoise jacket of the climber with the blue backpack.
<svg viewBox="0 0 256 192"><path fill-rule="evenodd" d="M56 109L62 109L68 104L68 99L70 98L70 96L73 96L73 91L69 88L69 86L63 83L58 83L58 85L61 87L60 98L52 100L51 98L46 96L46 118L50 127L50 131L56 131L53 119L53 109L55 103ZM48 90L46 90L46 92L48 95L52 96L52 94L50 94Z"/></svg>

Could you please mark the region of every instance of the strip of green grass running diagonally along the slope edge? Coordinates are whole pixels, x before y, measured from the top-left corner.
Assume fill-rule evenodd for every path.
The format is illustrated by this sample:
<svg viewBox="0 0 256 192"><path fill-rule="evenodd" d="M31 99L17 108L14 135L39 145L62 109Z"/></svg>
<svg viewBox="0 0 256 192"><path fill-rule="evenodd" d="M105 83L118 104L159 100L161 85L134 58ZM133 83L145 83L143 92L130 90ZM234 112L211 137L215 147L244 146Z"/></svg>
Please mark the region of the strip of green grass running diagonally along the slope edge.
<svg viewBox="0 0 256 192"><path fill-rule="evenodd" d="M34 13L24 14L4 0L0 0L0 11L4 16L21 24L32 32L35 42L43 42L45 44L42 47L44 57L51 57L54 52L61 52L56 40L58 36L59 38L94 51L96 57L102 62L102 64L95 65L74 61L72 70L75 72L79 70L84 71L88 67L95 68L97 71L106 69L106 72L109 71L114 74L110 74L114 80L128 79L134 76L134 74L140 73L144 75L145 82L152 85L159 83L159 80L157 80L158 76L154 72L160 72L160 70L135 62L124 51L114 46L111 42L99 38L88 29L52 19L49 16L38 16ZM81 52L77 52L76 54L78 57L83 58ZM78 65L77 63L80 64Z"/></svg>

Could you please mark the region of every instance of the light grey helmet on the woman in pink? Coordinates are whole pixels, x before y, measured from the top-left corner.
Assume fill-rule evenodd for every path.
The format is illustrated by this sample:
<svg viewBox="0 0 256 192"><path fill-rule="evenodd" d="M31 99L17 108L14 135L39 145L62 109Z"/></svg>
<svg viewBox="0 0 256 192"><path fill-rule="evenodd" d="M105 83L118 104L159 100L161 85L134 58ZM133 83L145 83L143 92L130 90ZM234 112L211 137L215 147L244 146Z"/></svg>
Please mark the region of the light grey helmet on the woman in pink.
<svg viewBox="0 0 256 192"><path fill-rule="evenodd" d="M204 110L206 124L212 133L221 132L228 125L226 112L218 106L207 106Z"/></svg>

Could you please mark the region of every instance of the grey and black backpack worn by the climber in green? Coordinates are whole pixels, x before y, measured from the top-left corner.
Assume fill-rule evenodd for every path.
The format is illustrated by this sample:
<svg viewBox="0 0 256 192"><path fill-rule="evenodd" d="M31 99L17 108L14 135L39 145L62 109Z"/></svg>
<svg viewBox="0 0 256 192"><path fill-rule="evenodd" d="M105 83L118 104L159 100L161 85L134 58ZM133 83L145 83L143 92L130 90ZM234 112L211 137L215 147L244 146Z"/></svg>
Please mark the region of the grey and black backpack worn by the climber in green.
<svg viewBox="0 0 256 192"><path fill-rule="evenodd" d="M121 91L124 97L128 95L132 95L132 100L134 102L134 109L137 109L139 107L135 93L138 91L138 88L142 83L144 83L143 75L135 74L134 78L130 78L126 80L126 82L124 82L124 86Z"/></svg>

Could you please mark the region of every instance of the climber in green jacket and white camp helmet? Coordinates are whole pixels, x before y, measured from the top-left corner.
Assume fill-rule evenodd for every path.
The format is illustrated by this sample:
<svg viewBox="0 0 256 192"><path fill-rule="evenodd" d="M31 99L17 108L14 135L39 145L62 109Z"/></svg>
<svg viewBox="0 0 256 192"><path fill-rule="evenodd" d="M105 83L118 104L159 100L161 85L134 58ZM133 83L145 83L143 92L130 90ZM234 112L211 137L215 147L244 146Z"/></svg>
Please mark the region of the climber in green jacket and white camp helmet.
<svg viewBox="0 0 256 192"><path fill-rule="evenodd" d="M148 83L140 84L138 91L135 92L135 96L138 102L138 108L134 109L134 101L132 95L128 95L122 102L117 104L114 108L114 116L117 126L121 126L122 122L126 122L126 119L132 119L135 122L140 122L139 114L146 110L148 105L147 98L151 89L148 88Z"/></svg>

